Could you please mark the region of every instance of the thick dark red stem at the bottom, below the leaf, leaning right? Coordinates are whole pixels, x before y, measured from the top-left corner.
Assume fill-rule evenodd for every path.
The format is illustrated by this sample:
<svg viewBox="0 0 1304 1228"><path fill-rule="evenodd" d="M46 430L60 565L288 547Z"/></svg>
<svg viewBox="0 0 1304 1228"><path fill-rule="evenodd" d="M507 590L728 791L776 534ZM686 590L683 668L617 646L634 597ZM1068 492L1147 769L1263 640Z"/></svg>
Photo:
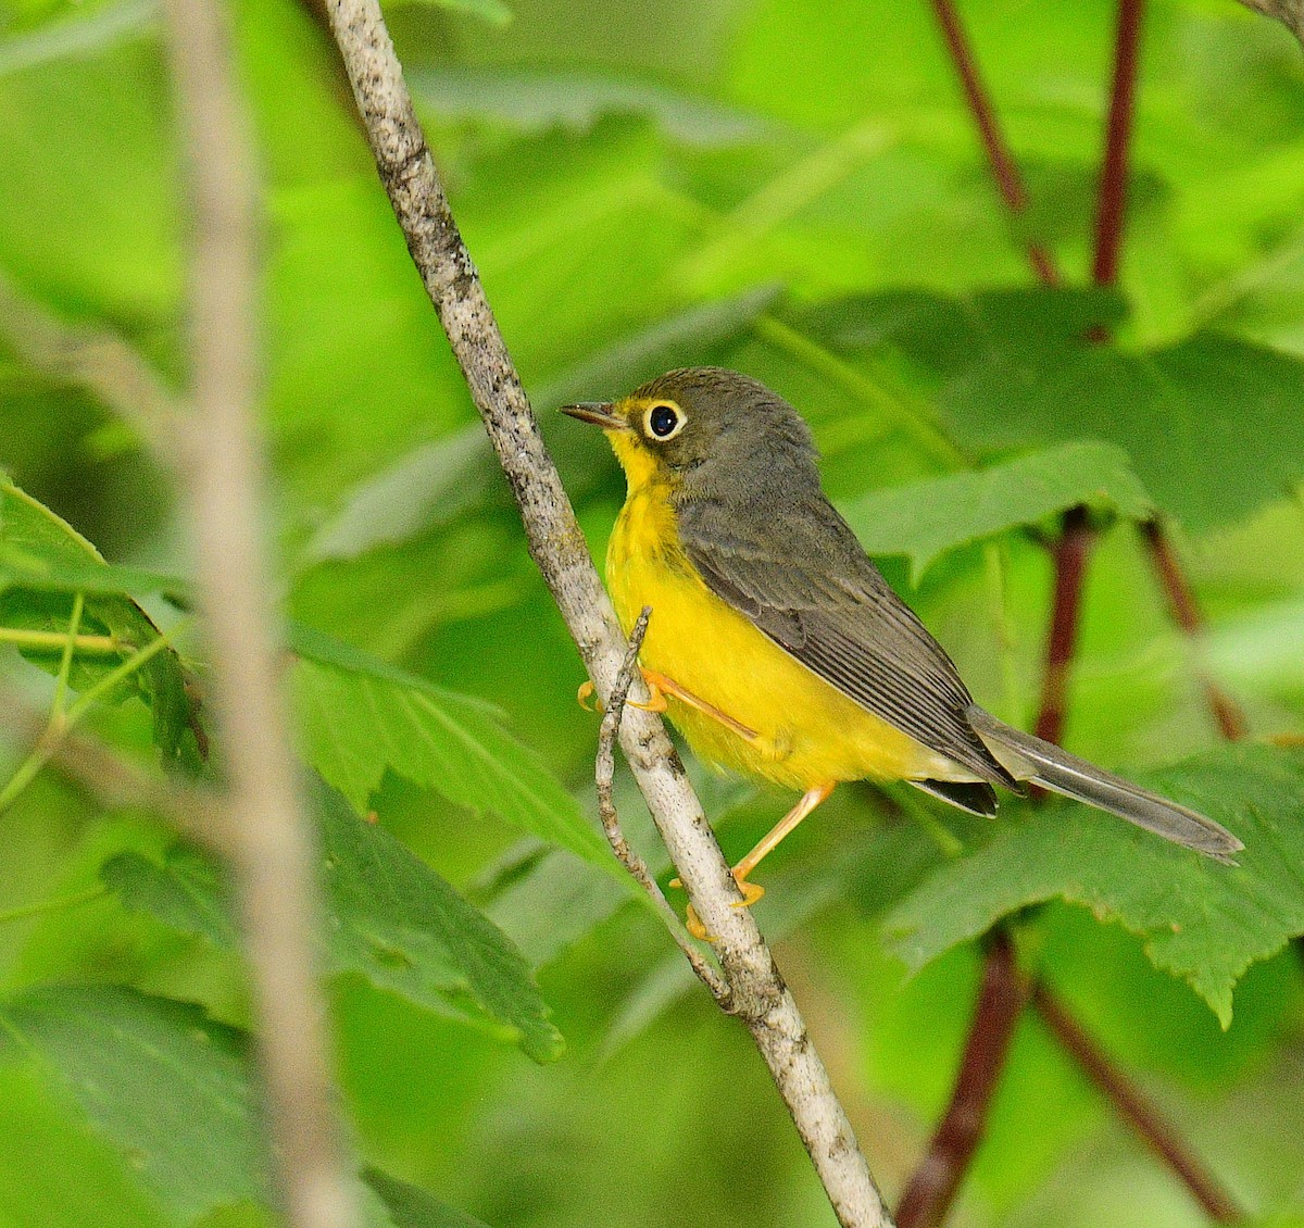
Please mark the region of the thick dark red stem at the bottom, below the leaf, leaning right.
<svg viewBox="0 0 1304 1228"><path fill-rule="evenodd" d="M951 1103L928 1154L901 1195L898 1228L936 1228L947 1218L986 1132L991 1100L1026 1000L1015 944L1004 929L995 929L988 937L982 987Z"/></svg>

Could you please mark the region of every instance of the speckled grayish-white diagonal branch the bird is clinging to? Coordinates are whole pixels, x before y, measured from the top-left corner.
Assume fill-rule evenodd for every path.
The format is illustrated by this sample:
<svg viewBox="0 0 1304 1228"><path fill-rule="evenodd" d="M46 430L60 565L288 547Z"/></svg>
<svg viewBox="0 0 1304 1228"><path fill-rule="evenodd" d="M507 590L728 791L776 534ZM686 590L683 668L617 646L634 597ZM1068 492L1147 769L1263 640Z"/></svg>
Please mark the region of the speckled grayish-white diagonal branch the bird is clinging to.
<svg viewBox="0 0 1304 1228"><path fill-rule="evenodd" d="M329 12L381 181L511 484L531 554L610 707L627 645L449 210L379 5L330 0ZM645 695L642 680L635 690ZM626 712L619 740L689 898L716 935L733 1012L769 1066L838 1220L889 1224L797 1004L750 911L734 907L737 884L660 720Z"/></svg>

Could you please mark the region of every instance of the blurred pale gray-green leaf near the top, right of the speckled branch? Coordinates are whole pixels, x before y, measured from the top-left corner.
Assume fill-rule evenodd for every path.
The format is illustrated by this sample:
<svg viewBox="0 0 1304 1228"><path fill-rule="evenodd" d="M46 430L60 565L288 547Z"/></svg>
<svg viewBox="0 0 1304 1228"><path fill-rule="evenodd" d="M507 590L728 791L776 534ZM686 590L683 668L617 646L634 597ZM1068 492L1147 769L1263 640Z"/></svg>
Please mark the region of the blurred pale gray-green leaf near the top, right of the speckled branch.
<svg viewBox="0 0 1304 1228"><path fill-rule="evenodd" d="M408 74L420 103L452 120L489 119L523 132L562 125L587 132L605 115L643 115L686 145L760 141L771 125L755 115L649 81L584 69L421 68Z"/></svg>

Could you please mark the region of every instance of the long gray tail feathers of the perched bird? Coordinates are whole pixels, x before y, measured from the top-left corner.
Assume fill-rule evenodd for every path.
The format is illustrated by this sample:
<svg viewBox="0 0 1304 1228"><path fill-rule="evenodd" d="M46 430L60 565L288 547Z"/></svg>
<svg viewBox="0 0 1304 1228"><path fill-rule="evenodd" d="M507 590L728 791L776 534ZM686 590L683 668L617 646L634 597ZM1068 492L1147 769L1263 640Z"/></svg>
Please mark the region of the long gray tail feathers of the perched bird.
<svg viewBox="0 0 1304 1228"><path fill-rule="evenodd" d="M1161 798L1157 793L1133 785L1085 759L1069 755L1050 742L1013 729L977 705L969 709L968 716L992 753L1001 759L1015 776L1030 780L1054 793L1061 793L1065 798L1108 811L1164 840L1194 849L1215 862L1235 866L1232 854L1245 847L1213 819ZM1003 751L1007 753L1003 755Z"/></svg>

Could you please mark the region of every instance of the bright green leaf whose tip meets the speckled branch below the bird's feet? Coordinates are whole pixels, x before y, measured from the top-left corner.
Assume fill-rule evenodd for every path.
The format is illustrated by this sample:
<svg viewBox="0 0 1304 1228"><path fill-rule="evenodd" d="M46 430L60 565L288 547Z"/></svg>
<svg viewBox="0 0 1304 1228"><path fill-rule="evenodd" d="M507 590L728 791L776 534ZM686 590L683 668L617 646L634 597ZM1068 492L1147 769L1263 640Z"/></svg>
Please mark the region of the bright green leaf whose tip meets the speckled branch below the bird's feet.
<svg viewBox="0 0 1304 1228"><path fill-rule="evenodd" d="M579 803L480 700L295 626L292 673L308 761L365 815L387 770L450 802L489 810L615 872Z"/></svg>

